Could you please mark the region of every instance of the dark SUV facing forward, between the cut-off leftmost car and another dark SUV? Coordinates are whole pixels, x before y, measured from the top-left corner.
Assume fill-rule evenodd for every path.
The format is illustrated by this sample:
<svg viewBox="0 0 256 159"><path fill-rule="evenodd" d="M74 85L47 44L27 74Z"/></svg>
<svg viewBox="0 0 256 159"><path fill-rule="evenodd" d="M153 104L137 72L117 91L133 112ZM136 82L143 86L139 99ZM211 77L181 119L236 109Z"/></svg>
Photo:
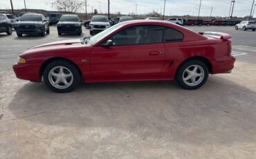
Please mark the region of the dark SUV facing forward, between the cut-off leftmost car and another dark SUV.
<svg viewBox="0 0 256 159"><path fill-rule="evenodd" d="M22 34L39 34L44 37L45 32L50 33L48 21L41 14L22 15L15 25L15 30L18 37L22 37Z"/></svg>

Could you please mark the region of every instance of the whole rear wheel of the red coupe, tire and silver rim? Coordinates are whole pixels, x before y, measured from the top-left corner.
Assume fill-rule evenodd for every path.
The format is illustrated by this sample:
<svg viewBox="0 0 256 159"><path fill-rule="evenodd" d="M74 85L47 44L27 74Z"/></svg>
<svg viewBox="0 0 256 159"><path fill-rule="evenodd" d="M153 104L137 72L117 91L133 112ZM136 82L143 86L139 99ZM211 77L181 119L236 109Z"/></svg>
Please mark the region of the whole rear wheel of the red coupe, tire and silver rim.
<svg viewBox="0 0 256 159"><path fill-rule="evenodd" d="M205 84L209 76L208 67L199 60L185 62L176 73L176 81L185 89L193 90Z"/></svg>

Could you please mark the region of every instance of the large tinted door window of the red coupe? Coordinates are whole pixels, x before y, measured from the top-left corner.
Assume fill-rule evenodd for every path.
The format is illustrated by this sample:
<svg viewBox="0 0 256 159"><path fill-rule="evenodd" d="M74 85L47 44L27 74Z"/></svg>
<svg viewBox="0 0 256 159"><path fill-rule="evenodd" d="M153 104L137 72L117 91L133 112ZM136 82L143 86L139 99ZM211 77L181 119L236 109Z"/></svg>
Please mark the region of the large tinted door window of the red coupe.
<svg viewBox="0 0 256 159"><path fill-rule="evenodd" d="M114 46L159 44L162 39L162 26L132 26L111 37Z"/></svg>

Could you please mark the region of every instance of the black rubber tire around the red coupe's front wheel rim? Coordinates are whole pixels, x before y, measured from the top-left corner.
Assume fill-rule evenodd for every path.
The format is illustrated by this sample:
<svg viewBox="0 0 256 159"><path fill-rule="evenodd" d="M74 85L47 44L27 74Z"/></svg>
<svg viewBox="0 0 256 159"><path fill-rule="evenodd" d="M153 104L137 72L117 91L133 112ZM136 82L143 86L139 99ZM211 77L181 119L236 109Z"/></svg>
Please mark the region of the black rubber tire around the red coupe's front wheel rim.
<svg viewBox="0 0 256 159"><path fill-rule="evenodd" d="M49 79L50 78L49 73L53 68L55 68L57 66L62 66L62 67L68 68L68 70L71 71L71 73L73 75L73 82L71 82L71 85L68 86L67 88L56 88L50 82L51 79ZM81 75L75 65L73 65L70 62L67 62L65 60L57 59L57 60L51 62L50 64L48 64L46 66L46 68L44 68L43 79L44 79L44 84L48 88L50 88L52 91L55 91L57 93L68 93L68 92L73 91L77 87L77 85L80 84Z"/></svg>

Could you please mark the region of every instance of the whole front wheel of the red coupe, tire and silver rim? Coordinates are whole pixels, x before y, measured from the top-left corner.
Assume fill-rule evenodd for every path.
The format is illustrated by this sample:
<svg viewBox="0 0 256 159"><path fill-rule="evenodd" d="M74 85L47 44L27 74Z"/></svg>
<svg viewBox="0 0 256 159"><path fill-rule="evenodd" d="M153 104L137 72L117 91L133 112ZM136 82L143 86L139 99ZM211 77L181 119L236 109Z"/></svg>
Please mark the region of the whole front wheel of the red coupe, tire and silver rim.
<svg viewBox="0 0 256 159"><path fill-rule="evenodd" d="M44 69L43 79L44 84L52 91L67 93L80 83L80 72L70 62L55 60Z"/></svg>

